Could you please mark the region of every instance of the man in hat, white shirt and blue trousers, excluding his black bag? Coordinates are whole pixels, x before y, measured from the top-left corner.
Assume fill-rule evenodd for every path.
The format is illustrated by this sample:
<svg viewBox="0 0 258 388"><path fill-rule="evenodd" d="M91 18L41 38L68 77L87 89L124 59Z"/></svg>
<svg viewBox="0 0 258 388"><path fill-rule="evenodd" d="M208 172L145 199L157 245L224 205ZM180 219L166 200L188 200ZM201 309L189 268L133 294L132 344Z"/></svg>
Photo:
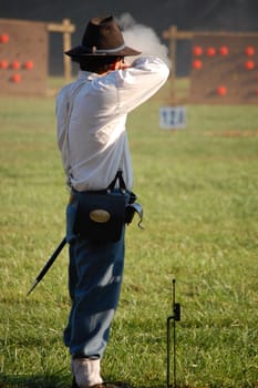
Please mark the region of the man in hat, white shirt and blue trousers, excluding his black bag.
<svg viewBox="0 0 258 388"><path fill-rule="evenodd" d="M56 98L58 143L68 185L76 193L105 190L117 171L132 191L126 115L165 83L169 70L155 57L124 58L128 48L113 17L94 18L82 44L66 52L80 64L76 81ZM83 194L83 195L84 195ZM71 215L72 214L72 215ZM64 343L72 356L73 387L104 387L101 359L120 299L124 226L118 241L94 243L74 233L73 201L68 205L69 290L72 300Z"/></svg>

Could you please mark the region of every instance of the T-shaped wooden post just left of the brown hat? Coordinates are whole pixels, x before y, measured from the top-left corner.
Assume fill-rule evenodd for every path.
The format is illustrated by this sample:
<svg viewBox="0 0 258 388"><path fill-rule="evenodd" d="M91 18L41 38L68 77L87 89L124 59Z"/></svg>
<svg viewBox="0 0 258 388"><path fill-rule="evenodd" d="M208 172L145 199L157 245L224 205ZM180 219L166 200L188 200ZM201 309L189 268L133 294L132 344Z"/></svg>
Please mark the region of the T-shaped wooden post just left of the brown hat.
<svg viewBox="0 0 258 388"><path fill-rule="evenodd" d="M63 51L71 49L71 34L75 31L75 25L71 24L70 19L63 19L62 23L48 23L49 32L62 32L63 33ZM71 60L68 55L63 55L64 67L64 81L69 83L72 76Z"/></svg>

